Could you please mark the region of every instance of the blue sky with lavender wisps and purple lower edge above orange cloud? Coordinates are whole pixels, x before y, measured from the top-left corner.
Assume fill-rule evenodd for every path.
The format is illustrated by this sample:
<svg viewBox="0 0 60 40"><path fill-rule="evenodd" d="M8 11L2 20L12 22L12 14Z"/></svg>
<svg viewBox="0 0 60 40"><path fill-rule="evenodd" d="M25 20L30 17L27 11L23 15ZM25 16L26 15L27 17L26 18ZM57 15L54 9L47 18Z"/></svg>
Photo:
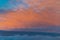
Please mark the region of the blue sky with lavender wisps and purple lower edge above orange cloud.
<svg viewBox="0 0 60 40"><path fill-rule="evenodd" d="M12 10L14 8L18 8L18 6L22 4L24 8L28 8L28 4L24 3L24 0L0 0L0 13L5 13L7 10Z"/></svg>

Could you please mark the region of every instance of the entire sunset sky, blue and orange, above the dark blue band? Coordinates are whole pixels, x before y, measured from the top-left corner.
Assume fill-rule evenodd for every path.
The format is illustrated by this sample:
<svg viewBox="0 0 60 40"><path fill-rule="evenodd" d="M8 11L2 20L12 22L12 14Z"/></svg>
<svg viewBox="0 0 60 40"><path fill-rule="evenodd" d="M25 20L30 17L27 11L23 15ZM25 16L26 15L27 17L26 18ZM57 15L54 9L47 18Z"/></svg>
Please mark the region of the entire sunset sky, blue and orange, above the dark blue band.
<svg viewBox="0 0 60 40"><path fill-rule="evenodd" d="M0 0L0 30L59 28L59 0Z"/></svg>

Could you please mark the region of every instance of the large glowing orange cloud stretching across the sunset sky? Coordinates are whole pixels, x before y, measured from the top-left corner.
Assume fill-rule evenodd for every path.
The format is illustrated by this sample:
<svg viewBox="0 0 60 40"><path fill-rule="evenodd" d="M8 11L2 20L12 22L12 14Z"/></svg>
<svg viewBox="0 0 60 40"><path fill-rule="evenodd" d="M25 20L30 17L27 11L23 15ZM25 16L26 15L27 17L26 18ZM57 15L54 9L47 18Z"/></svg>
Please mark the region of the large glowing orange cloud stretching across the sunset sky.
<svg viewBox="0 0 60 40"><path fill-rule="evenodd" d="M36 3L36 1L34 1ZM59 25L60 26L60 14L57 13L58 5L55 5L55 0L49 0L42 2L36 8L45 7L39 9L40 12L34 11L35 7L28 9L18 9L16 11L10 11L6 14L0 15L0 29L14 29L14 28L30 28L33 23L40 23L39 25ZM32 3L33 4L33 3ZM51 7L50 7L50 6ZM55 7L56 6L56 7ZM42 24L41 24L42 23ZM46 24L47 23L47 24ZM37 24L35 24L36 26ZM32 26L33 27L33 26Z"/></svg>

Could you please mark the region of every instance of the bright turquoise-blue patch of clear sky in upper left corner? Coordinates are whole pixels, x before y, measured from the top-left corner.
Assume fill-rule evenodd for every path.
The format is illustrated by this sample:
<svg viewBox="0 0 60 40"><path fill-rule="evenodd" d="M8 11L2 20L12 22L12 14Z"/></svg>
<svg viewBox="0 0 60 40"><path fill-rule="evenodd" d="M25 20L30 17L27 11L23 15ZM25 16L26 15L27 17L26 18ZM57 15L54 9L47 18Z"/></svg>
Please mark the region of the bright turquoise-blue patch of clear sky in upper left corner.
<svg viewBox="0 0 60 40"><path fill-rule="evenodd" d="M16 2L14 0L13 0L13 3L10 3L10 2L12 2L12 0L0 0L0 9L13 8Z"/></svg>

